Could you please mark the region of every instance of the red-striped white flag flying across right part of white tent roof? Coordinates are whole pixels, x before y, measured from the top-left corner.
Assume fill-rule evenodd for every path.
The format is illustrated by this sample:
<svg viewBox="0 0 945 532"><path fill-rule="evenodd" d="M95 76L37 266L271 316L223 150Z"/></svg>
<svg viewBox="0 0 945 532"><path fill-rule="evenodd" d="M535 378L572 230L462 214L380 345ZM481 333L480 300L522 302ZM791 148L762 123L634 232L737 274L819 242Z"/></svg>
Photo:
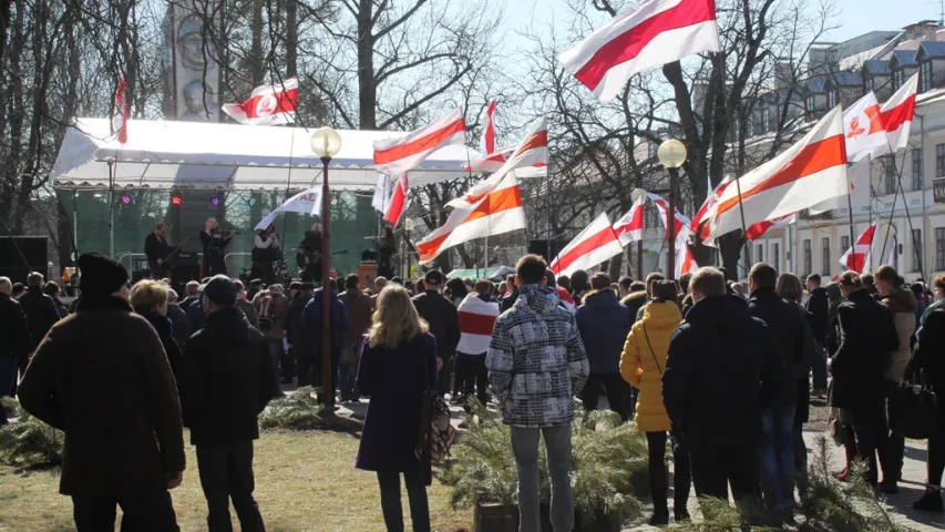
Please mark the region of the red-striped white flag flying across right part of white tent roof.
<svg viewBox="0 0 945 532"><path fill-rule="evenodd" d="M386 174L403 174L441 147L462 145L465 137L466 121L458 108L436 122L399 139L374 141L374 167Z"/></svg>

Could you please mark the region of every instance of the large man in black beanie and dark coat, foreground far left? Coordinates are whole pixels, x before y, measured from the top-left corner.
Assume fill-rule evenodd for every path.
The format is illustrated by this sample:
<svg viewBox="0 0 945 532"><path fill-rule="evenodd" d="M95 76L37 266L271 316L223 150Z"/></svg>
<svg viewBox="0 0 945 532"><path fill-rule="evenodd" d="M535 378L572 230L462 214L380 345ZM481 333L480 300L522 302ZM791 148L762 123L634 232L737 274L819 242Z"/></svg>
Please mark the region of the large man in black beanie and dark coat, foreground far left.
<svg viewBox="0 0 945 532"><path fill-rule="evenodd" d="M183 480L177 386L157 332L129 305L127 272L109 257L78 260L82 298L33 355L20 405L65 432L60 493L79 530L177 530L167 490Z"/></svg>

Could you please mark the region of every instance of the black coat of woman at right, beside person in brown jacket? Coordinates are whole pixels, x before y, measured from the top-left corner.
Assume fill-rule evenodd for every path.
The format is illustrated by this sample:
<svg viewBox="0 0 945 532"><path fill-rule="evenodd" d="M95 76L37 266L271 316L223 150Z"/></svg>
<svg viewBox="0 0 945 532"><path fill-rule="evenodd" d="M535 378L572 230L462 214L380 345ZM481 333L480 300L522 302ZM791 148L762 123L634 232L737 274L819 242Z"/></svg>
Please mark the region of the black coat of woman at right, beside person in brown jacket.
<svg viewBox="0 0 945 532"><path fill-rule="evenodd" d="M838 307L840 347L831 357L830 406L849 410L882 407L890 352L900 340L893 315L865 289Z"/></svg>

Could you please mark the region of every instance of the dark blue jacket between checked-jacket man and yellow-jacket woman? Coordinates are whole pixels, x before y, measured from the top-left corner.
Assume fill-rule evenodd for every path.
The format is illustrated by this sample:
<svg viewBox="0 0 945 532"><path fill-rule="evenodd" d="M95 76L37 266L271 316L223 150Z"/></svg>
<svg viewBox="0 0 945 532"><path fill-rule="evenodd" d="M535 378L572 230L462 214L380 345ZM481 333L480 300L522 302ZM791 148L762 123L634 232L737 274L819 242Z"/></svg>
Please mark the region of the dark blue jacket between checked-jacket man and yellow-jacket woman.
<svg viewBox="0 0 945 532"><path fill-rule="evenodd" d="M590 375L620 372L620 354L630 334L630 315L613 290L584 297L575 314L577 330L590 362Z"/></svg>

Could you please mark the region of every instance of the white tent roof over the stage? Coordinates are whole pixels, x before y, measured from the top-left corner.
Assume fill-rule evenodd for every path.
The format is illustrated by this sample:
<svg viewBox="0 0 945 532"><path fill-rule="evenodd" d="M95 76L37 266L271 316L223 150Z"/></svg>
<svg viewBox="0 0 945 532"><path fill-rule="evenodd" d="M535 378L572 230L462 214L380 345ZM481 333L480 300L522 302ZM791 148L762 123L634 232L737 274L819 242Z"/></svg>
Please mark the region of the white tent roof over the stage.
<svg viewBox="0 0 945 532"><path fill-rule="evenodd" d="M119 144L109 119L76 119L62 141L51 177L55 187L286 190L321 183L321 161L302 127L273 127L178 121L129 121ZM341 151L331 160L329 184L337 190L373 188L378 182L373 142L404 132L339 130ZM468 175L480 156L465 146L434 152L410 172L412 186Z"/></svg>

